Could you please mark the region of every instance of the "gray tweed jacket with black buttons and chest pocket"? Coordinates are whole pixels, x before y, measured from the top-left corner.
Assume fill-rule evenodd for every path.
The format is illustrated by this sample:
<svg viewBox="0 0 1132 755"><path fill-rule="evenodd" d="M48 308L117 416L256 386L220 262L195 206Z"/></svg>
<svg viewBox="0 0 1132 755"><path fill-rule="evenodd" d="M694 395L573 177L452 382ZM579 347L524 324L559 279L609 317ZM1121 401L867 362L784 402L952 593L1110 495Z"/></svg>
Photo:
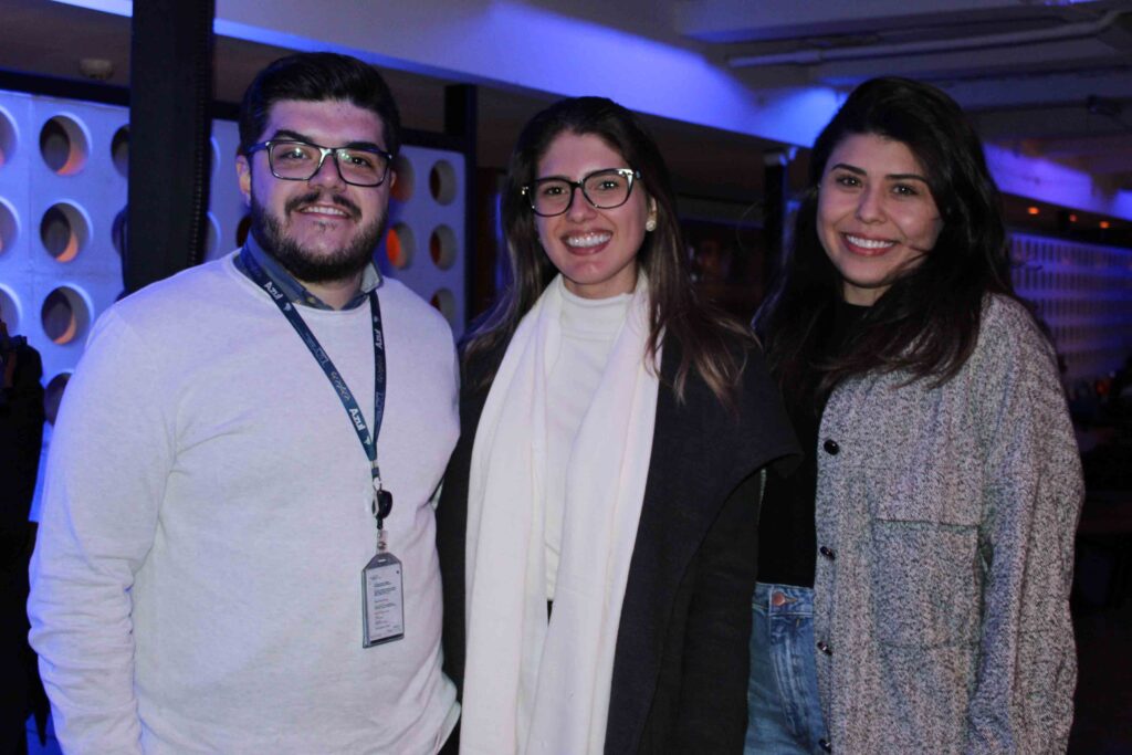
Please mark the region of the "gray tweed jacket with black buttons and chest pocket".
<svg viewBox="0 0 1132 755"><path fill-rule="evenodd" d="M906 379L839 386L817 440L833 752L1064 752L1083 483L1052 350L1019 303L989 298L954 378Z"/></svg>

